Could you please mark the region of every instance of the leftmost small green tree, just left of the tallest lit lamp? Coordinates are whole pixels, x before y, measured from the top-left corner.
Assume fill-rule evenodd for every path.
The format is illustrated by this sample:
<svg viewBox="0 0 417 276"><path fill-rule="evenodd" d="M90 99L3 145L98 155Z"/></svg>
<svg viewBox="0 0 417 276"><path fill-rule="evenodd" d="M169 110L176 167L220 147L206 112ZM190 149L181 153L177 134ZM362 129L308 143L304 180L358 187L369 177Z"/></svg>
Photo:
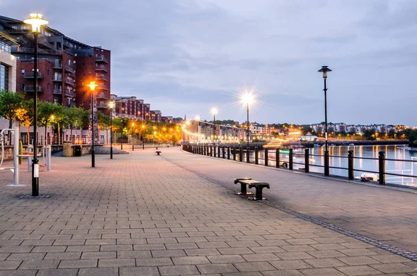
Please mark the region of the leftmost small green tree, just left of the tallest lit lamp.
<svg viewBox="0 0 417 276"><path fill-rule="evenodd" d="M22 108L24 93L0 90L0 116L9 121L9 129L12 128L13 122L16 121L16 112ZM10 135L8 134L10 143Z"/></svg>

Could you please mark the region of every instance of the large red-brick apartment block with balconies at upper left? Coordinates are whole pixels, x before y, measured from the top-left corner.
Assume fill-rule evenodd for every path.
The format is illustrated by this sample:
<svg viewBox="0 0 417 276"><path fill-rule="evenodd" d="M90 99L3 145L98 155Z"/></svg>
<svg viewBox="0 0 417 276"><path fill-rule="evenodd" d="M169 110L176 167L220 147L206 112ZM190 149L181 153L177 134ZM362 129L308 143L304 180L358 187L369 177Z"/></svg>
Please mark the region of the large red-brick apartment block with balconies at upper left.
<svg viewBox="0 0 417 276"><path fill-rule="evenodd" d="M0 25L17 43L10 52L17 58L17 90L33 97L35 49L31 26L23 21L0 16ZM48 26L42 26L38 37L38 97L41 101L90 108L91 94L86 85L96 81L95 105L108 113L110 98L111 52L101 47L68 38Z"/></svg>

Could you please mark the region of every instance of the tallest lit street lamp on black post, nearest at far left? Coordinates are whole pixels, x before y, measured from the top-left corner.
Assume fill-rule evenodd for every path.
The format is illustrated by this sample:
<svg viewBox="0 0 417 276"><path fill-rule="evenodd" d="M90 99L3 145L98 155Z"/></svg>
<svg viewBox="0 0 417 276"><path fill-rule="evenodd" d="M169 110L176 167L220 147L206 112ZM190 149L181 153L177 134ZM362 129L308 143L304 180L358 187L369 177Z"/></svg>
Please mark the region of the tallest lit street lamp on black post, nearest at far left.
<svg viewBox="0 0 417 276"><path fill-rule="evenodd" d="M33 51L33 159L32 159L32 195L39 196L39 164L38 164L38 143L36 139L37 134L37 120L38 120L38 35L40 33L40 26L48 24L47 20L42 18L40 13L31 13L31 18L24 20L25 24L32 25L32 33L35 38L35 49Z"/></svg>

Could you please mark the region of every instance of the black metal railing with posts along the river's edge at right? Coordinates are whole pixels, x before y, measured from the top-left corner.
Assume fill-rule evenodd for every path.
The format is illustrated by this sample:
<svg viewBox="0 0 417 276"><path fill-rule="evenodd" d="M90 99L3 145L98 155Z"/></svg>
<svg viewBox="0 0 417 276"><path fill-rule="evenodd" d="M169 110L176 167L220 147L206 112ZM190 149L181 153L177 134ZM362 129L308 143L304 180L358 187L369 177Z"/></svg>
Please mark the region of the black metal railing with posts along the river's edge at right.
<svg viewBox="0 0 417 276"><path fill-rule="evenodd" d="M256 165L275 166L275 168L286 168L288 170L294 170L295 165L304 166L304 168L298 168L306 173L310 172L310 167L319 167L324 170L325 165L316 165L311 162L311 157L320 157L325 159L324 154L310 154L309 149L304 149L304 152L294 152L293 149L280 149L270 150L268 148L261 151L255 147L255 150L243 149L243 147L229 147L227 145L183 145L183 150L186 152L192 152L193 154L201 154L205 156L213 156L222 159L231 159L235 161L246 163L254 163ZM298 157L301 156L301 161ZM263 158L262 158L263 157ZM378 153L378 157L359 157L354 156L353 150L347 152L347 156L329 155L328 158L341 158L347 159L347 168L338 167L334 165L328 165L327 170L346 170L348 179L355 179L354 172L368 172L370 174L376 174L379 184L400 184L404 186L417 186L417 175L414 175L413 163L417 160L417 157L411 157L411 160L405 159L388 159L385 156L385 152ZM377 170L362 170L354 168L354 160L373 160L377 161ZM386 163L388 161L411 163L411 170L386 170ZM325 162L329 164L329 162ZM361 177L359 177L361 179Z"/></svg>

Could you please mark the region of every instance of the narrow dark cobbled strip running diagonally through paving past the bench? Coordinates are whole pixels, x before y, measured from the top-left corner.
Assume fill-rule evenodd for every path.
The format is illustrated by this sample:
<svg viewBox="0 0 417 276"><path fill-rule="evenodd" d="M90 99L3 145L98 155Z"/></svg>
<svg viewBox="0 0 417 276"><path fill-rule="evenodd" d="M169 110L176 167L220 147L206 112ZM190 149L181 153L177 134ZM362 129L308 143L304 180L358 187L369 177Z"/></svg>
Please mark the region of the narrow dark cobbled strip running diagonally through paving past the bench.
<svg viewBox="0 0 417 276"><path fill-rule="evenodd" d="M206 179L207 181L210 181L213 184L216 184L218 186L222 186L223 188L226 188L227 190L231 190L234 193L238 192L238 190L235 190L234 188L231 188L231 187L227 186L226 184L223 184L220 181L217 181L215 179L212 179L210 177L207 177L204 174L199 174L198 172L195 172L195 171L190 170L190 169L188 169L186 167L183 167L181 165L178 165L178 164L176 164L176 163L174 163L174 162L172 162L170 160L167 160L167 159L165 159L165 160L168 161L168 162L170 162L170 163L173 163L174 165L177 165L179 168L182 168L183 170L187 170L188 172L192 172L193 174L196 174L198 177L202 177L202 179ZM265 167L265 168L267 168L267 167ZM378 241L375 238L370 238L368 236L364 236L362 234L359 234L359 233L356 233L356 232L352 232L352 231L347 230L347 229L344 229L342 227L338 227L336 225L332 225L332 224L329 224L327 222L323 222L322 220L318 220L316 218L311 218L311 217L306 216L306 215L304 215L302 213L298 213L298 212L293 211L291 209L288 209L288 208L284 208L282 206L279 206L278 204L273 204L272 202L270 202L268 200L259 201L259 203L266 204L266 205L271 206L271 207L273 207L275 209L279 209L280 211L283 211L285 213L288 213L290 215L293 215L293 216L295 216L297 218L301 218L302 220L306 220L308 222L312 222L315 225L320 225L320 226L325 227L327 229L331 229L334 232L338 232L340 234L344 234L346 236L350 236L352 238L357 239L358 241L362 241L363 243L367 243L369 245L373 245L375 247L381 248L381 249L386 250L386 251L389 251L391 253L398 254L398 255L400 255L400 256L402 256L404 258L410 259L411 261L417 261L417 254L415 254L413 252L409 252L407 250L400 249L400 248L395 247L393 245L389 245L387 243L383 243L382 241Z"/></svg>

